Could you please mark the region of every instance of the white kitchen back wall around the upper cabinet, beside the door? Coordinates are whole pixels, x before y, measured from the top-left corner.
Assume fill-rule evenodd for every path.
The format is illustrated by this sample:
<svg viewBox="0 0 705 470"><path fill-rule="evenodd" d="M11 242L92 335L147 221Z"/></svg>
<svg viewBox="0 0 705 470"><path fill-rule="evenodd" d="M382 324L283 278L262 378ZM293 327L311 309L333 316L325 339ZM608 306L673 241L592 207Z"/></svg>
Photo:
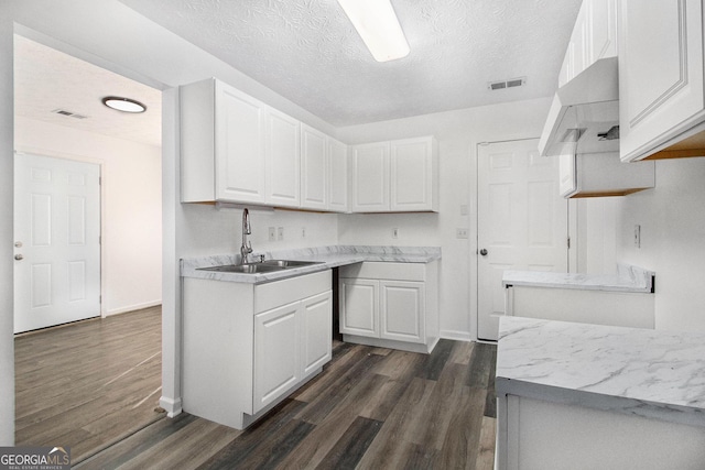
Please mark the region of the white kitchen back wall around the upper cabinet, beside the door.
<svg viewBox="0 0 705 470"><path fill-rule="evenodd" d="M486 106L338 129L347 143L376 142L433 134L438 140L440 214L340 216L343 244L438 245L441 272L441 335L477 337L477 143L536 138L550 98ZM460 215L460 205L469 215ZM399 239L391 229L399 228ZM456 228L469 228L470 238L456 238Z"/></svg>

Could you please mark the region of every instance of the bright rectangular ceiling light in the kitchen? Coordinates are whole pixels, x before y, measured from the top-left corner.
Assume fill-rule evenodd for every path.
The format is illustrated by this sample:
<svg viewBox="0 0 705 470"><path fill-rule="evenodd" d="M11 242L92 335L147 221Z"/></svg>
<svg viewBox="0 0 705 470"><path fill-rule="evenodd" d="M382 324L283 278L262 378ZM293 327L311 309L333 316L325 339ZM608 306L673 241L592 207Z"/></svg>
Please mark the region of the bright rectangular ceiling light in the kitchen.
<svg viewBox="0 0 705 470"><path fill-rule="evenodd" d="M390 0L338 0L375 61L405 57L409 43Z"/></svg>

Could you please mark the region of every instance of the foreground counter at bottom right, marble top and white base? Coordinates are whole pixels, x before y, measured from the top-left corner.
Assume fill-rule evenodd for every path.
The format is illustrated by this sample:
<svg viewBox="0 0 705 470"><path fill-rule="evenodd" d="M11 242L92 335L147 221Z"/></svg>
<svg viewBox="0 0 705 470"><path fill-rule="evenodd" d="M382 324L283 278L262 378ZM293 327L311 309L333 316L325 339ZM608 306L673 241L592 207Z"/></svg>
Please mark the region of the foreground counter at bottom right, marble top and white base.
<svg viewBox="0 0 705 470"><path fill-rule="evenodd" d="M497 468L702 468L705 335L501 317Z"/></svg>

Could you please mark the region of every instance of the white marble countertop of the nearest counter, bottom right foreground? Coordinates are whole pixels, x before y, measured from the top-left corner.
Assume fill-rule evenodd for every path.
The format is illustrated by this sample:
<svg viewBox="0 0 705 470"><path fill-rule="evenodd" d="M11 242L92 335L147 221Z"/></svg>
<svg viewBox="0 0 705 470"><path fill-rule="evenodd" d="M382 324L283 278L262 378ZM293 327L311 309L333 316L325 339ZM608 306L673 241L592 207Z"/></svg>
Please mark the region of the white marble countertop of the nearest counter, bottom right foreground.
<svg viewBox="0 0 705 470"><path fill-rule="evenodd" d="M500 317L497 393L705 427L705 334Z"/></svg>

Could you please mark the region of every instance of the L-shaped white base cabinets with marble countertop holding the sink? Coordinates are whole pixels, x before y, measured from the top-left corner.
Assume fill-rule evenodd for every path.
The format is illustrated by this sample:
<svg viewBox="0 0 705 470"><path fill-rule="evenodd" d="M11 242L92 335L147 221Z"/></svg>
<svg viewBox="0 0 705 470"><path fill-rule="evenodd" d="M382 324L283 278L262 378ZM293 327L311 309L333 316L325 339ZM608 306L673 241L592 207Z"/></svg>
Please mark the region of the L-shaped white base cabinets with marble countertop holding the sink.
<svg viewBox="0 0 705 470"><path fill-rule="evenodd" d="M438 341L440 248L335 245L251 256L296 266L212 270L237 267L240 254L181 262L183 408L193 415L243 429L322 371L332 357L333 267L347 270L339 282L345 341L416 352Z"/></svg>

